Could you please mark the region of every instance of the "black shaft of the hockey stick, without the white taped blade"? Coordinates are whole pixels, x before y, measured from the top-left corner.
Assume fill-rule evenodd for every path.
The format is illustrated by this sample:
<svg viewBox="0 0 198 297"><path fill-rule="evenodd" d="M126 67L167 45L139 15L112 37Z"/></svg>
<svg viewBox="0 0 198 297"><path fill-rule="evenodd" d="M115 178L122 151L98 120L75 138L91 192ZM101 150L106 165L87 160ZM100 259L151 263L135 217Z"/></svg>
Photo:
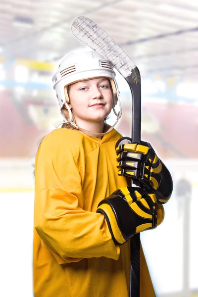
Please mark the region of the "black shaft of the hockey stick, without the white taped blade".
<svg viewBox="0 0 198 297"><path fill-rule="evenodd" d="M132 94L132 132L133 142L141 141L141 77L135 68L138 81L131 74L126 78ZM140 297L140 234L131 238L130 297Z"/></svg>

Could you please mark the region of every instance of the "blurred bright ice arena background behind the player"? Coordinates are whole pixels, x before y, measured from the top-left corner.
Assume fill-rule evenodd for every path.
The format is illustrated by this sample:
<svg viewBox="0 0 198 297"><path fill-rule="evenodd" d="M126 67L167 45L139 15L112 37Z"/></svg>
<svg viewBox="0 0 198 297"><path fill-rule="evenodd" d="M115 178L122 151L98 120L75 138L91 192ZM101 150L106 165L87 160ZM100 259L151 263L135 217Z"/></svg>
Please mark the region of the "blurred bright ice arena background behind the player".
<svg viewBox="0 0 198 297"><path fill-rule="evenodd" d="M156 296L196 297L196 0L0 0L0 296L33 296L32 163L37 143L61 119L52 74L66 52L85 48L70 30L80 15L98 22L138 65L142 139L173 176L164 223L141 236ZM116 129L130 136L130 92L117 77L123 116Z"/></svg>

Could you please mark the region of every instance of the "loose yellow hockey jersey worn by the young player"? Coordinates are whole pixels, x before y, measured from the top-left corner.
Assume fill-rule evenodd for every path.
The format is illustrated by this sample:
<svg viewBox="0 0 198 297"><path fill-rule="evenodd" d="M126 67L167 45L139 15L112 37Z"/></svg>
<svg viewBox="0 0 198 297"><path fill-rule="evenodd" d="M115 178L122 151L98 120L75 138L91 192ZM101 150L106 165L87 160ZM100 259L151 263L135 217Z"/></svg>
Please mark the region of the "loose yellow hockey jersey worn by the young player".
<svg viewBox="0 0 198 297"><path fill-rule="evenodd" d="M60 128L35 162L35 297L128 297L130 241L116 246L99 202L127 186L118 176L113 129L102 139ZM141 247L140 296L154 297Z"/></svg>

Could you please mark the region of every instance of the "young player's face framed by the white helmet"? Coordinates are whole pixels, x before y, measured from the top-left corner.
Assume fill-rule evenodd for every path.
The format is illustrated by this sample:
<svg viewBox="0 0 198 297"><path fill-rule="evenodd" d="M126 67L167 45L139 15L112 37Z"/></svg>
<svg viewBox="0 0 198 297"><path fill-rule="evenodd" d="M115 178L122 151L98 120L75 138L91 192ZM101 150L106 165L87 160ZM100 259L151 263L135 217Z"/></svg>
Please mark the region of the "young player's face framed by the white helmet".
<svg viewBox="0 0 198 297"><path fill-rule="evenodd" d="M76 123L103 122L110 113L113 98L107 78L81 81L69 87L69 107Z"/></svg>

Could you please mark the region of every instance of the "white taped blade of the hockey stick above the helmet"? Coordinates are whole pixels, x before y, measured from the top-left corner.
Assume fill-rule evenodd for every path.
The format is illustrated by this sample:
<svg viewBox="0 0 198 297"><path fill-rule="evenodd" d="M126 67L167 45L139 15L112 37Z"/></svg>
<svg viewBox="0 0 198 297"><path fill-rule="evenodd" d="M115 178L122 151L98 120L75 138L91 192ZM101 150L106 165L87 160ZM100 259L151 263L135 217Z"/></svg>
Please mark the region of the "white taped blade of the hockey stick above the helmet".
<svg viewBox="0 0 198 297"><path fill-rule="evenodd" d="M104 58L111 61L123 77L136 75L136 65L130 56L93 20L85 16L77 17L72 24L73 35L99 52ZM138 81L138 79L137 79Z"/></svg>

